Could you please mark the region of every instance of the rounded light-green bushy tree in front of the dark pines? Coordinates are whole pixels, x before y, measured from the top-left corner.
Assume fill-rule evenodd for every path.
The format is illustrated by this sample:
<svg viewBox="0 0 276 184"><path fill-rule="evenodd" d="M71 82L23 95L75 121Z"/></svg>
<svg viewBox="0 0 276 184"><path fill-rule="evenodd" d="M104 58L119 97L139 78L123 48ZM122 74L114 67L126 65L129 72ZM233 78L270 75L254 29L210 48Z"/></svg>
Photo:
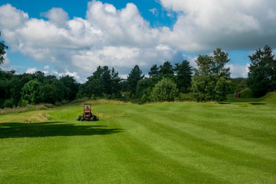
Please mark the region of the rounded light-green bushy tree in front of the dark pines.
<svg viewBox="0 0 276 184"><path fill-rule="evenodd" d="M150 101L174 101L178 95L177 84L172 79L164 78L152 89Z"/></svg>

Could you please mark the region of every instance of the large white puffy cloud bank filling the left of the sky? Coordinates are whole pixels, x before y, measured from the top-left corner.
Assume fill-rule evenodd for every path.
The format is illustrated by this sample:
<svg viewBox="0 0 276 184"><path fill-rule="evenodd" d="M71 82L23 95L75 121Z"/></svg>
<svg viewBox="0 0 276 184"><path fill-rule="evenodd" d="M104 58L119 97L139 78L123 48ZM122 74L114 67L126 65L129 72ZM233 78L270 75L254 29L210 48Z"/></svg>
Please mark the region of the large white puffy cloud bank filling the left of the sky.
<svg viewBox="0 0 276 184"><path fill-rule="evenodd" d="M114 67L124 75L136 64L146 71L153 63L183 59L180 50L159 43L160 30L151 28L133 3L117 10L111 4L90 1L86 19L68 19L61 8L41 13L48 20L29 19L27 13L10 4L0 8L5 10L0 29L10 48L36 61L52 63L57 75L69 74L83 81L98 65ZM19 21L10 25L6 17Z"/></svg>

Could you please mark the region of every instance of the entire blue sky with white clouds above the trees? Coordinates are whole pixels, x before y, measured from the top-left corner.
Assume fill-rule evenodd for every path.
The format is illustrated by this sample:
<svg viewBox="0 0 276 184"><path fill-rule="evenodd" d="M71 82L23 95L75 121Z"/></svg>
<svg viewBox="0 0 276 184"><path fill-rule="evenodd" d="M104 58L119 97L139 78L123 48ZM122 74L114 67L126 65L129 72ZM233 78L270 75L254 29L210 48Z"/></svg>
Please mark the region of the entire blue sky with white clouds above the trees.
<svg viewBox="0 0 276 184"><path fill-rule="evenodd" d="M0 1L3 70L75 76L83 83L98 65L122 77L139 65L228 52L231 77L247 77L248 55L276 48L274 0Z"/></svg>

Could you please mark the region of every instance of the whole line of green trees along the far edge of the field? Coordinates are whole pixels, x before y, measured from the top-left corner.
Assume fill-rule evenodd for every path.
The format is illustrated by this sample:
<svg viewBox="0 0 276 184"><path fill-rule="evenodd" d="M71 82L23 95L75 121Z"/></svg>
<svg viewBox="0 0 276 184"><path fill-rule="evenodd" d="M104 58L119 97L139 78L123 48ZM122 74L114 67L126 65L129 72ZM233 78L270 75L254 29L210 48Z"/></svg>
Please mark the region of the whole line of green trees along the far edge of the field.
<svg viewBox="0 0 276 184"><path fill-rule="evenodd" d="M8 46L1 41L0 65L6 49ZM179 99L179 94L190 94L196 101L224 101L226 94L237 90L237 83L246 85L254 97L276 90L276 61L272 49L266 45L249 58L251 64L246 81L230 79L230 68L226 68L230 59L220 48L212 55L199 55L195 61L197 68L192 68L186 60L175 65L166 61L162 65L152 65L148 77L138 65L132 68L127 79L121 79L115 68L98 66L86 83L78 83L68 75L57 78L41 71L15 74L14 70L0 70L0 108L37 103L59 105L83 97L135 99L145 103L174 101Z"/></svg>

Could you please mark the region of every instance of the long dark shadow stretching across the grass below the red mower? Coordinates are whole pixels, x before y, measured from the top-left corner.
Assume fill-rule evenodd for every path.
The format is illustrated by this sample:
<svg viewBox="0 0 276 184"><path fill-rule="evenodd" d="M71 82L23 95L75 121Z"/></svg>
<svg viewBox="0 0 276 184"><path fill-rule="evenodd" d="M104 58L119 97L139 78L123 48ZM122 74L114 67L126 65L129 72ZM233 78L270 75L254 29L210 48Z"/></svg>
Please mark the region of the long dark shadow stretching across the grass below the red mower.
<svg viewBox="0 0 276 184"><path fill-rule="evenodd" d="M107 128L102 125L76 125L73 123L1 123L0 139L39 136L89 136L115 134L124 131L120 128Z"/></svg>

